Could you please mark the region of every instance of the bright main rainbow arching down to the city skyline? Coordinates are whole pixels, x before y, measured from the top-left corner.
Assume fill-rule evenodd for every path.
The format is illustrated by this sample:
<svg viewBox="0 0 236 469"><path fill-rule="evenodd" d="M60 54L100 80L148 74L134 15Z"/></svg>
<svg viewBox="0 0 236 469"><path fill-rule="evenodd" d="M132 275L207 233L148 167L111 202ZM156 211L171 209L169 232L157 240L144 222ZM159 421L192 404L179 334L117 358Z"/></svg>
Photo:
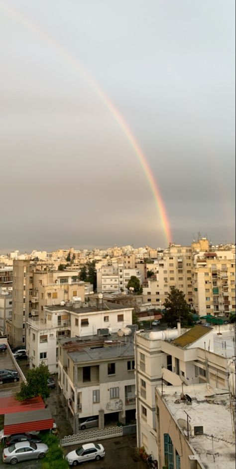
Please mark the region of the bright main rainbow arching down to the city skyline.
<svg viewBox="0 0 236 469"><path fill-rule="evenodd" d="M62 44L60 44L57 40L55 40L52 36L50 36L44 29L42 29L33 20L31 19L29 20L25 15L19 12L16 8L5 6L4 4L2 4L2 2L0 2L0 6L5 10L6 13L9 13L11 16L14 16L18 20L20 20L28 29L30 29L34 33L37 33L39 36L41 36L41 38L44 41L47 41L54 49L57 49L60 54L63 54L64 57L73 64L73 66L79 69L80 74L83 76L86 82L91 86L91 88L97 94L97 96L101 99L101 101L105 104L108 110L111 112L114 119L117 121L119 127L122 129L129 144L131 145L143 169L143 172L146 176L146 179L148 181L148 184L154 196L155 205L156 205L159 217L160 217L160 221L161 221L163 232L166 238L166 242L169 244L171 242L170 224L169 224L167 212L166 212L160 191L158 189L157 183L151 172L151 169L148 165L147 159L143 151L138 145L136 138L132 134L130 128L128 127L127 123L121 116L118 109L115 107L113 102L109 99L109 97L105 94L103 89L98 85L98 83L88 74L88 72L80 64L77 58L74 55L72 55Z"/></svg>

